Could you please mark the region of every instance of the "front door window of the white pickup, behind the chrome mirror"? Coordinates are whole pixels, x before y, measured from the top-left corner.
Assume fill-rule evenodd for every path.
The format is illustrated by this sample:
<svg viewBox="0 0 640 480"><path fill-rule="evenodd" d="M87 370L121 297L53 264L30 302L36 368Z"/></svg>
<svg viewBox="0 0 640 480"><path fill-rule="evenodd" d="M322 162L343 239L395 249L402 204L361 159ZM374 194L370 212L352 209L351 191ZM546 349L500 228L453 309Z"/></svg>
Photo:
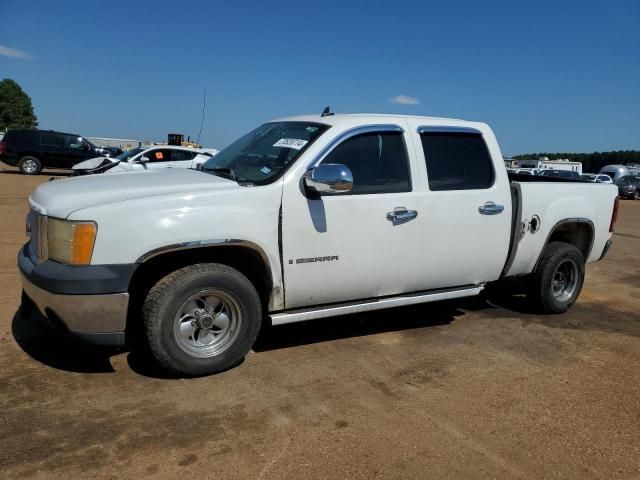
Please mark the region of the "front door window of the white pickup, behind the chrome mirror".
<svg viewBox="0 0 640 480"><path fill-rule="evenodd" d="M401 132L365 133L351 137L322 163L341 163L351 169L351 194L411 191L407 149Z"/></svg>

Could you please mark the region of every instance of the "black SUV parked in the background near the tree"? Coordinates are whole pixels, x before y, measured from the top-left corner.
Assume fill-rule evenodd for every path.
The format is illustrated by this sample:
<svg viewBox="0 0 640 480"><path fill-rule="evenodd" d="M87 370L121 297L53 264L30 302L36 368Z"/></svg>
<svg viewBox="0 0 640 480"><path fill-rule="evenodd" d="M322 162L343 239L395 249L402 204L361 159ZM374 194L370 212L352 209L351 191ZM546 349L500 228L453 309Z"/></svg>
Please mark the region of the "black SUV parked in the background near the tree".
<svg viewBox="0 0 640 480"><path fill-rule="evenodd" d="M78 134L53 130L9 130L0 140L0 160L26 175L44 167L71 168L89 158L101 157L89 140Z"/></svg>

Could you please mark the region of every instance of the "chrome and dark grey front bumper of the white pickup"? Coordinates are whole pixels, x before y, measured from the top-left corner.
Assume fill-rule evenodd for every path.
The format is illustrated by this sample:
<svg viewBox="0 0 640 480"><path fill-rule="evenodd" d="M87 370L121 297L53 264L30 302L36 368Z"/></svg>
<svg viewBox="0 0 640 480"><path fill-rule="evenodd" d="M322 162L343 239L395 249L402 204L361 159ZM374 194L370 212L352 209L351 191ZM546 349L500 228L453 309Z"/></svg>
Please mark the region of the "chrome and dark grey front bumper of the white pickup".
<svg viewBox="0 0 640 480"><path fill-rule="evenodd" d="M25 294L54 326L93 344L122 346L136 265L72 267L18 256Z"/></svg>

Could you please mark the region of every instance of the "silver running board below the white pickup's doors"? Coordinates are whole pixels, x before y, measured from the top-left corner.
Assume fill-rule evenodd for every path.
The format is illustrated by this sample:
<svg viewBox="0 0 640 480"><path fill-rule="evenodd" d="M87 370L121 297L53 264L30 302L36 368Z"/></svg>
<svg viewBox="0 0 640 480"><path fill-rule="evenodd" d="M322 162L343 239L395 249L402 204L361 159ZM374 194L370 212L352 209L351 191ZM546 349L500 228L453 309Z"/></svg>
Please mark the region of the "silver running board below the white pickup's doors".
<svg viewBox="0 0 640 480"><path fill-rule="evenodd" d="M337 305L322 307L302 308L290 310L288 312L273 313L269 315L272 325L283 325L285 323L304 322L305 320L315 320L318 318L335 317L338 315L349 315L351 313L369 312L381 310L383 308L403 307L415 305L417 303L437 302L439 300L450 300L453 298L473 297L484 289L484 285L473 287L432 290L429 293L421 292L411 295L400 295L396 297L385 297L360 302L348 302Z"/></svg>

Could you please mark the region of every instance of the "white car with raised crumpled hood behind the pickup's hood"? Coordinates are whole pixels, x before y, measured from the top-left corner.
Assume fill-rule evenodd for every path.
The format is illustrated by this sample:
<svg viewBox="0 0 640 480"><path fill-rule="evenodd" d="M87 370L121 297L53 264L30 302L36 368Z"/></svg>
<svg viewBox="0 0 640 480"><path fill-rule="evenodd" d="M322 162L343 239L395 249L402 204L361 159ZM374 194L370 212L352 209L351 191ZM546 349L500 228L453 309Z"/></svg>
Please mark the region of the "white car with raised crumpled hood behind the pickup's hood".
<svg viewBox="0 0 640 480"><path fill-rule="evenodd" d="M96 157L75 164L73 175L121 173L160 168L198 168L218 151L172 145L137 147L116 157Z"/></svg>

